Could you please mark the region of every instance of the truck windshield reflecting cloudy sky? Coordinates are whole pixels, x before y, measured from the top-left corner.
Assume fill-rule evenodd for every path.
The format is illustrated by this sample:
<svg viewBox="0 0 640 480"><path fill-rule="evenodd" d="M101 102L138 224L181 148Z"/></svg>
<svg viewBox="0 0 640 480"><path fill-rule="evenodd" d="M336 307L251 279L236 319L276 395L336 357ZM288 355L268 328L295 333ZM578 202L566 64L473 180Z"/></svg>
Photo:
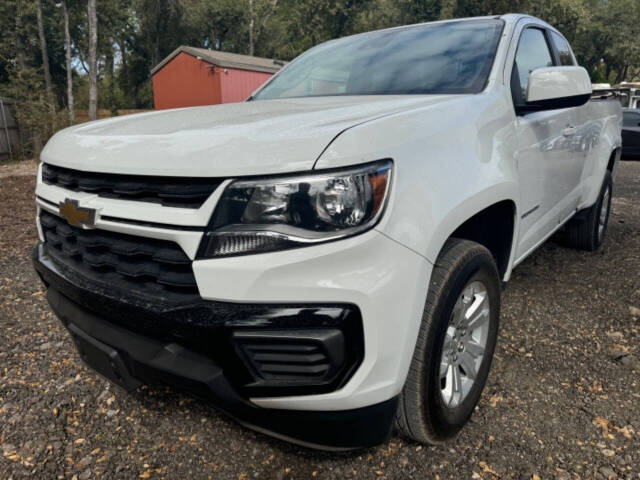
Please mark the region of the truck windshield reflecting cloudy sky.
<svg viewBox="0 0 640 480"><path fill-rule="evenodd" d="M502 27L498 19L467 20L333 40L298 57L254 99L478 93Z"/></svg>

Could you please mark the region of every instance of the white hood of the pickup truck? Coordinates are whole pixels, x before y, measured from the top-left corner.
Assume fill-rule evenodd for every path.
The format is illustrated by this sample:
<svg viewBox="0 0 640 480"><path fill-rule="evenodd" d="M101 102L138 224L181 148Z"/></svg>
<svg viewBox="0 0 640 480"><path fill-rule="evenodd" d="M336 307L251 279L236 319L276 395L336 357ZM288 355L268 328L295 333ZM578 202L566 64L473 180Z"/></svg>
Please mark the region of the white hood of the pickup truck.
<svg viewBox="0 0 640 480"><path fill-rule="evenodd" d="M315 97L162 110L58 132L44 162L78 170L190 177L304 171L341 132L452 95Z"/></svg>

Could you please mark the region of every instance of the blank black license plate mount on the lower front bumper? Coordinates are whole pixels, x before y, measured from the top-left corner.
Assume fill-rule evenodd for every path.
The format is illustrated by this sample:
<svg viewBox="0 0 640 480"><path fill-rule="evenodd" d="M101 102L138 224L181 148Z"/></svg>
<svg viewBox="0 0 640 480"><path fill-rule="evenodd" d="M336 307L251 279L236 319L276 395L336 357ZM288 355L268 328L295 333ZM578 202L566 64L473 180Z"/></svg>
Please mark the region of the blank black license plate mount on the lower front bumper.
<svg viewBox="0 0 640 480"><path fill-rule="evenodd" d="M109 345L87 335L74 324L67 325L80 358L107 380L131 392L142 383L129 373L122 355Z"/></svg>

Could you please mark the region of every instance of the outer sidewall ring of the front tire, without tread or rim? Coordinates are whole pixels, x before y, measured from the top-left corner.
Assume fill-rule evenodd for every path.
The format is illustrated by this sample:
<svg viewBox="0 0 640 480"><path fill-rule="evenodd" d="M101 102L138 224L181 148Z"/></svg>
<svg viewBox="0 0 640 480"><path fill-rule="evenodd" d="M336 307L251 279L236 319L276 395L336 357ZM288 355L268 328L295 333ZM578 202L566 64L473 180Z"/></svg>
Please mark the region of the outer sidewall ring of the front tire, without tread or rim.
<svg viewBox="0 0 640 480"><path fill-rule="evenodd" d="M449 408L444 404L440 393L440 358L453 307L462 290L474 280L481 281L487 288L490 312L487 344L476 380L467 397L457 407ZM434 310L434 321L425 349L427 392L424 408L430 410L427 417L432 419L434 433L442 439L447 439L455 435L473 413L491 368L500 318L500 287L493 258L488 252L479 252L453 272L443 292L444 295L438 300Z"/></svg>

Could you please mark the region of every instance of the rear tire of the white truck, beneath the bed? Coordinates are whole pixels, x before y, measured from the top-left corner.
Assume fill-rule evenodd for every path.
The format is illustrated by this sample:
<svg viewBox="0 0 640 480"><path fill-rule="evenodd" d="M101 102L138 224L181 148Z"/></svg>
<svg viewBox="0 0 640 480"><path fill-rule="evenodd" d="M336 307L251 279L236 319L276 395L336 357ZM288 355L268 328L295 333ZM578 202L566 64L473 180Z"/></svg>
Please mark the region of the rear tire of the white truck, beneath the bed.
<svg viewBox="0 0 640 480"><path fill-rule="evenodd" d="M607 233L612 197L613 181L611 180L611 173L607 171L604 175L598 200L592 207L578 212L574 218L567 222L560 236L560 243L567 247L587 250L589 252L599 250L604 243ZM604 224L601 229L603 208L606 208L606 211L604 213Z"/></svg>

